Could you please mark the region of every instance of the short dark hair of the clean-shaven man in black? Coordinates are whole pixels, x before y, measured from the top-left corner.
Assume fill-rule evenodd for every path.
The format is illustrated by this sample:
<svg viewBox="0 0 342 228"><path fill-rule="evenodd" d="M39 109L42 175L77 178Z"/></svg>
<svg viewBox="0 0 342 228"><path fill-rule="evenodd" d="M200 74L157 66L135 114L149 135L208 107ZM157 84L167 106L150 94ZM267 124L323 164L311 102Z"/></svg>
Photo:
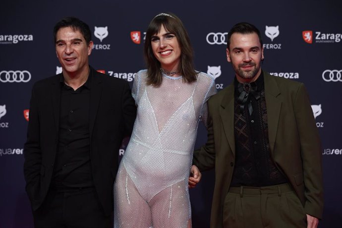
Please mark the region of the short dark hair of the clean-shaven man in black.
<svg viewBox="0 0 342 228"><path fill-rule="evenodd" d="M87 44L90 43L91 31L89 26L76 17L64 17L63 19L57 22L57 24L54 27L55 43L58 30L66 27L71 27L73 31L79 31L83 35Z"/></svg>

